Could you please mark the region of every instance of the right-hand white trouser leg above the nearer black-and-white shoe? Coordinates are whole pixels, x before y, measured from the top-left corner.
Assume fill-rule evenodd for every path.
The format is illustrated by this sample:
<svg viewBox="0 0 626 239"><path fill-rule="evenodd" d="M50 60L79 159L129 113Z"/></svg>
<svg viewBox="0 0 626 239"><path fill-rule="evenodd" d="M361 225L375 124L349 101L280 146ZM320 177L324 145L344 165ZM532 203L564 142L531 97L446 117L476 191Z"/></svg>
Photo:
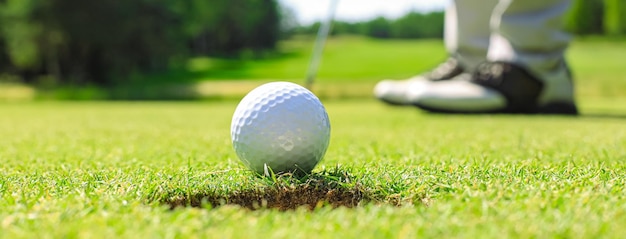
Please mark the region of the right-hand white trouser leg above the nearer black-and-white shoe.
<svg viewBox="0 0 626 239"><path fill-rule="evenodd" d="M489 61L513 62L544 82L540 103L573 101L564 65L570 41L562 29L570 0L500 0L491 19Z"/></svg>

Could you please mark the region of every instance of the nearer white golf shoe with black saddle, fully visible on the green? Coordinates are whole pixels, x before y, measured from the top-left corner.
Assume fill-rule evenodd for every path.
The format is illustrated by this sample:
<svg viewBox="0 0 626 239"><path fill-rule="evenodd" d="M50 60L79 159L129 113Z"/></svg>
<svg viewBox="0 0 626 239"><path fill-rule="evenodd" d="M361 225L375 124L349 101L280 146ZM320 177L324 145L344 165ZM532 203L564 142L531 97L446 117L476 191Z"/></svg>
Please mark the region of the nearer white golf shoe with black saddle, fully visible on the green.
<svg viewBox="0 0 626 239"><path fill-rule="evenodd" d="M487 62L474 73L437 81L410 95L419 108L440 113L576 115L569 68L563 62L543 80L506 62Z"/></svg>

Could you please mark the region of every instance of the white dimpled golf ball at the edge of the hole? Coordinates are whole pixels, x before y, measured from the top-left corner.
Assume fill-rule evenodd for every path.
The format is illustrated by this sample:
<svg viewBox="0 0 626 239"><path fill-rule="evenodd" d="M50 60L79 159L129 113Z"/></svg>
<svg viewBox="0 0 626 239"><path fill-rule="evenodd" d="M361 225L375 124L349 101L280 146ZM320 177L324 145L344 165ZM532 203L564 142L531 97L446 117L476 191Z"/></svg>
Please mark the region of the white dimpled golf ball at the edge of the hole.
<svg viewBox="0 0 626 239"><path fill-rule="evenodd" d="M272 82L239 102L230 133L237 156L253 171L263 174L267 165L275 173L308 173L326 153L330 122L309 90Z"/></svg>

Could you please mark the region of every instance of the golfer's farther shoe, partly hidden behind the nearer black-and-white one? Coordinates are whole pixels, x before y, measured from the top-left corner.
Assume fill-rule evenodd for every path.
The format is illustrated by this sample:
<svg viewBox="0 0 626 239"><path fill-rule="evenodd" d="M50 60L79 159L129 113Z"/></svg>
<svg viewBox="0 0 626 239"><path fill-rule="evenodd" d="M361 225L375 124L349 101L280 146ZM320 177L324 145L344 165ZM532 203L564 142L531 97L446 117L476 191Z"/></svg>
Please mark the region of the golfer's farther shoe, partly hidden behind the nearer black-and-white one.
<svg viewBox="0 0 626 239"><path fill-rule="evenodd" d="M374 96L390 105L413 105L413 98L430 83L452 79L463 73L459 62L450 57L435 69L406 80L383 80L374 87Z"/></svg>

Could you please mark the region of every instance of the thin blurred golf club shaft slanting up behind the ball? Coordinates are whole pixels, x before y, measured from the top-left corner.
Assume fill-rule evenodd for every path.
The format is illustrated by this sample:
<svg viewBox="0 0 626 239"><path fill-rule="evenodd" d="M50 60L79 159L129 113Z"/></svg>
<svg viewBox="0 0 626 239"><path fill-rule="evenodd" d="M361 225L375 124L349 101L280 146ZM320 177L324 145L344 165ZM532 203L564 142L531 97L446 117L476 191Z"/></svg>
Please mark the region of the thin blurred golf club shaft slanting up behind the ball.
<svg viewBox="0 0 626 239"><path fill-rule="evenodd" d="M317 70L319 69L319 65L322 60L322 52L324 51L324 44L326 43L326 39L328 38L328 34L330 33L330 30L332 28L338 3L339 0L331 0L328 10L328 17L317 31L315 45L313 46L313 54L311 56L311 62L309 63L309 69L306 74L306 82L304 85L309 90L311 90L311 88L313 87L313 82L315 81L315 77L317 76Z"/></svg>

